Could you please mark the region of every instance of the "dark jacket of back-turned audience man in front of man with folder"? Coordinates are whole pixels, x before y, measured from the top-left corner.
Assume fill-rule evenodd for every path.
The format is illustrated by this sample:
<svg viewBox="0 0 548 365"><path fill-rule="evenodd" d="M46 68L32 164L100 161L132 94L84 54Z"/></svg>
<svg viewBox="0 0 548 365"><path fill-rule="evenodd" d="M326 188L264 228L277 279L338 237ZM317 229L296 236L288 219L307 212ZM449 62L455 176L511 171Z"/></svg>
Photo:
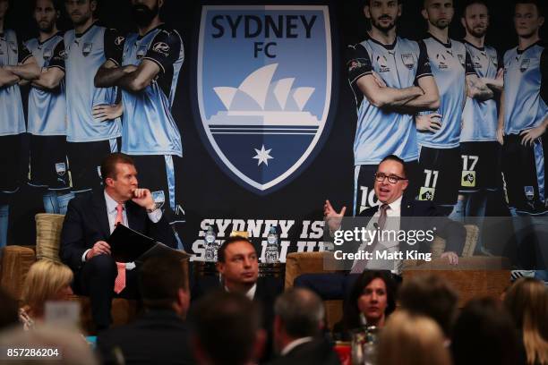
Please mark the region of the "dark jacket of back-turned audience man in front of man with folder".
<svg viewBox="0 0 548 365"><path fill-rule="evenodd" d="M119 347L126 364L193 364L184 320L171 310L150 310L132 324L98 335L97 350L105 363L114 363Z"/></svg>

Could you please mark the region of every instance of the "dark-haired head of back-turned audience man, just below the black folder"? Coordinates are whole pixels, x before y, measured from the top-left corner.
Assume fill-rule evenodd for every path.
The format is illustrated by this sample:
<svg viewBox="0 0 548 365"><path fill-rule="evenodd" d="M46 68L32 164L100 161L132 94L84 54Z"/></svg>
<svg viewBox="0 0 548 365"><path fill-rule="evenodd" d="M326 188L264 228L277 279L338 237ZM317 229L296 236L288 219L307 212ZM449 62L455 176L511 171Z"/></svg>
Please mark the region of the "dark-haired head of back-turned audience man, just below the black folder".
<svg viewBox="0 0 548 365"><path fill-rule="evenodd" d="M152 310L175 310L185 317L190 303L188 278L183 262L175 255L147 259L139 271L142 302Z"/></svg>

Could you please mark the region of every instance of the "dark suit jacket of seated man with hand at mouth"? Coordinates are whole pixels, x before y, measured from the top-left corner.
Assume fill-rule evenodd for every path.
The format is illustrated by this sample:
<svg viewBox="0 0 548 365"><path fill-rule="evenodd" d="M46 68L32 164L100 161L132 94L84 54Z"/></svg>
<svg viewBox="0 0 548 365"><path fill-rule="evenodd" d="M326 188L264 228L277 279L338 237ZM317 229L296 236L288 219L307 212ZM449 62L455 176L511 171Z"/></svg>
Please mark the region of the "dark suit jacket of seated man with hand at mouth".
<svg viewBox="0 0 548 365"><path fill-rule="evenodd" d="M152 223L146 209L132 200L125 203L125 215L128 225L133 230L176 248L175 234L165 215L162 215L158 223ZM84 251L93 247L95 242L107 241L109 236L110 227L104 192L98 190L81 194L69 202L64 216L59 256L74 272L78 272L83 265L81 256Z"/></svg>

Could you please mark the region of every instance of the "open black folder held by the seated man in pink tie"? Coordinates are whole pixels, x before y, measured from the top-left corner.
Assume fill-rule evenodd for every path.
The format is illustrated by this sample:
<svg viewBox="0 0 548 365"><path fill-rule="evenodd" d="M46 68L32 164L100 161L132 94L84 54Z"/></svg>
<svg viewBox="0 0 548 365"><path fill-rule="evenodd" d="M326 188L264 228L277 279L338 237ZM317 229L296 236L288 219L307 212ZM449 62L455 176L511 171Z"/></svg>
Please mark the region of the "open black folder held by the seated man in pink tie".
<svg viewBox="0 0 548 365"><path fill-rule="evenodd" d="M110 252L116 262L143 262L151 256L171 254L181 259L189 257L180 250L174 250L162 242L154 241L125 225L118 224L108 238Z"/></svg>

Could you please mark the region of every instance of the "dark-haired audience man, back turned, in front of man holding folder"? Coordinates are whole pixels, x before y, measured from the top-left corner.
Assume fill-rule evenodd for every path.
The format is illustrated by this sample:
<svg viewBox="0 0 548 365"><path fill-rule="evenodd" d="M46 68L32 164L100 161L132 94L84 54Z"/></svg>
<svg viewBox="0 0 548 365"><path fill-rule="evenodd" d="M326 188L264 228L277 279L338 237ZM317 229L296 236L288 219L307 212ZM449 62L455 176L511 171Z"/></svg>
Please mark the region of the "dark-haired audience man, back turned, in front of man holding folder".
<svg viewBox="0 0 548 365"><path fill-rule="evenodd" d="M139 271L139 289L145 313L98 335L102 360L108 364L122 356L128 364L193 364L184 321L190 291L181 260L166 255L147 259Z"/></svg>

